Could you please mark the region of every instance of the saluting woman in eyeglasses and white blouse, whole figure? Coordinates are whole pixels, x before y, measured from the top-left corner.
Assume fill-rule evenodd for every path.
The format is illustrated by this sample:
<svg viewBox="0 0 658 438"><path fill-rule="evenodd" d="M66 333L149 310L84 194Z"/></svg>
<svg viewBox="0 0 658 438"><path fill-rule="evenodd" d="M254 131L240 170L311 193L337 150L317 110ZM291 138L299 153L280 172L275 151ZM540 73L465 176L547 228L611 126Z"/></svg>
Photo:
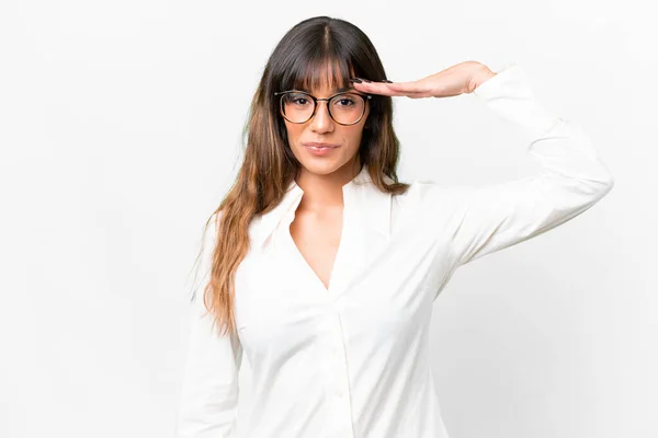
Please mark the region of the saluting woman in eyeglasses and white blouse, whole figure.
<svg viewBox="0 0 658 438"><path fill-rule="evenodd" d="M363 80L356 78L364 78ZM392 96L474 93L532 135L534 177L483 187L398 182ZM432 303L455 269L536 237L613 180L518 65L466 61L392 83L370 39L326 16L264 69L237 182L206 223L178 437L447 437L429 362ZM211 251L209 249L213 249Z"/></svg>

